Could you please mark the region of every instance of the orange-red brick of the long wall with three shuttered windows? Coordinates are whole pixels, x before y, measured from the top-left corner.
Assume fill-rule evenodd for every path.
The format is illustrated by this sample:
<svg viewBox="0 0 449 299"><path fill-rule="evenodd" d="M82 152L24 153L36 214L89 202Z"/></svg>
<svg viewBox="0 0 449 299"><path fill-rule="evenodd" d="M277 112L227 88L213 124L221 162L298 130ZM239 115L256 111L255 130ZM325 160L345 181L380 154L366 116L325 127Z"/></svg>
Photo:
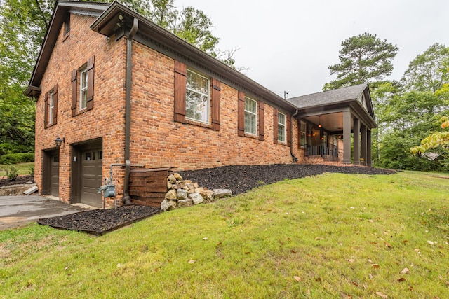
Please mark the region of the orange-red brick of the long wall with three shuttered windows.
<svg viewBox="0 0 449 299"><path fill-rule="evenodd" d="M238 136L238 90L224 82L220 92L220 131L193 122L176 123L173 120L174 60L140 43L133 45L132 163L200 169L292 161L290 147L273 142L272 106L265 104L264 141ZM297 144L297 122L293 124L293 144Z"/></svg>

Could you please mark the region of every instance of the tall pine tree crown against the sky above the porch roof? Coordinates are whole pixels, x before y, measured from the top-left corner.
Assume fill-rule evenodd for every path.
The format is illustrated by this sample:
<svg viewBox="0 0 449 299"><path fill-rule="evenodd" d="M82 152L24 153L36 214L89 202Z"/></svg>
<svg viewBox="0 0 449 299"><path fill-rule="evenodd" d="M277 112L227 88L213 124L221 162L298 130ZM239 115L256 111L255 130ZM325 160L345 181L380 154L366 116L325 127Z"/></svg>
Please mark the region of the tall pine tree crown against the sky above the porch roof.
<svg viewBox="0 0 449 299"><path fill-rule="evenodd" d="M337 79L326 83L323 90L384 80L393 71L391 62L398 50L386 39L369 33L342 41L340 64L329 66L330 74L337 74Z"/></svg>

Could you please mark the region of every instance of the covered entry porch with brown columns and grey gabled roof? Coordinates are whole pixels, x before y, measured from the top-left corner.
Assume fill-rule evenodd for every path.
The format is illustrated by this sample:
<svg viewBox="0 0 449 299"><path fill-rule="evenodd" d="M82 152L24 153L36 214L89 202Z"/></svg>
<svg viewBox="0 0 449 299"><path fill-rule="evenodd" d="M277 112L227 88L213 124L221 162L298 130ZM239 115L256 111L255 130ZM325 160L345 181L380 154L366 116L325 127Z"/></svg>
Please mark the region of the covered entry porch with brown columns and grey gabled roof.
<svg viewBox="0 0 449 299"><path fill-rule="evenodd" d="M288 100L298 107L304 156L371 166L371 131L377 125L368 84Z"/></svg>

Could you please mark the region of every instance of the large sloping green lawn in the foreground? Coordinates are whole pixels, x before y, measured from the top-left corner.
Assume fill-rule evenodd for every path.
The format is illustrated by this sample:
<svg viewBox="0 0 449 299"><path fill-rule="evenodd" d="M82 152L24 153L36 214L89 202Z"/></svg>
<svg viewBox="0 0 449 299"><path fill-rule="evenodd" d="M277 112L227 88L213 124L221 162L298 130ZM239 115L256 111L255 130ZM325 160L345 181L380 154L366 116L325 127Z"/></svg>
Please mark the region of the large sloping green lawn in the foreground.
<svg viewBox="0 0 449 299"><path fill-rule="evenodd" d="M323 174L102 237L0 232L0 298L449 298L449 179Z"/></svg>

